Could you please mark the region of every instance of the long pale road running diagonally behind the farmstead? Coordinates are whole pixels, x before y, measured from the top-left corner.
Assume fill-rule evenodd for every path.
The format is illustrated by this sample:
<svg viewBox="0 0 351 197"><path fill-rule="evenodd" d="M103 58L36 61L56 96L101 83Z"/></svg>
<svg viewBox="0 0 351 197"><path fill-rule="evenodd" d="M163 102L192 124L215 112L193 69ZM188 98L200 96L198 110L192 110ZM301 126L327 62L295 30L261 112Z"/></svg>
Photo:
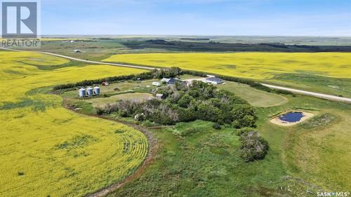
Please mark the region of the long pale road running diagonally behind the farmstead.
<svg viewBox="0 0 351 197"><path fill-rule="evenodd" d="M27 50L15 50L15 49L9 49L9 48L0 48L3 50L13 50L13 51L27 51ZM79 58L75 58L75 57L69 57L66 55L59 55L59 54L55 54L55 53L48 53L48 52L42 52L42 51L32 51L32 52L36 52L36 53L42 53L42 54L46 54L46 55L54 55L56 57L62 57L62 58L66 58L68 60L76 60L79 62L86 62L86 63L90 63L90 64L106 64L106 65L112 65L112 66L117 66L117 67L130 67L130 68L135 68L135 69L147 69L147 70L152 70L152 69L159 69L156 67L142 67L142 66L136 66L136 65L131 65L131 64L117 64L117 63L110 63L110 62L95 62L95 61L90 61L90 60L82 60ZM211 77L210 75L208 75L208 77ZM288 90L291 91L293 93L297 93L297 94L301 94L301 95L309 95L312 97L320 97L326 100L335 100L335 101L341 101L341 102L351 102L351 98L347 98L347 97L338 97L338 96L334 96L334 95L326 95L323 93L314 93L314 92L310 92L310 91L305 91L305 90L298 90L298 89L293 89L293 88L285 88L282 86L273 86L273 85L269 85L269 84L265 84L265 83L261 83L263 86L267 86L268 88L274 88L274 89L278 89L278 90Z"/></svg>

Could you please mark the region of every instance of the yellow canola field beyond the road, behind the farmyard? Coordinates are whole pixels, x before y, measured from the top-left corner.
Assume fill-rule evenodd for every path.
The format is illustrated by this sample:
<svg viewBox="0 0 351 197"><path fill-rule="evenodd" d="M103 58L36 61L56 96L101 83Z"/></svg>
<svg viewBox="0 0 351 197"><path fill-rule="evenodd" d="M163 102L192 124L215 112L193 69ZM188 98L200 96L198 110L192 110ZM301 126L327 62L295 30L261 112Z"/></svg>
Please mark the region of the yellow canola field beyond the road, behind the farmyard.
<svg viewBox="0 0 351 197"><path fill-rule="evenodd" d="M145 53L112 55L104 61L180 67L252 79L270 79L278 73L351 78L351 53Z"/></svg>

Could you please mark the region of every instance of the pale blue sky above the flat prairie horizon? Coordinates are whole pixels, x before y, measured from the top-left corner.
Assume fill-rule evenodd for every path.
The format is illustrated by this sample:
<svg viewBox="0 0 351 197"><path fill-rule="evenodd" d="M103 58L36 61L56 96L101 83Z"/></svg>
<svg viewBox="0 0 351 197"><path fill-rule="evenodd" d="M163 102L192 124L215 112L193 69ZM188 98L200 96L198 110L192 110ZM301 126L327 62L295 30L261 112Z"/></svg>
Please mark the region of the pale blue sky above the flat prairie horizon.
<svg viewBox="0 0 351 197"><path fill-rule="evenodd" d="M351 36L351 0L41 0L41 33Z"/></svg>

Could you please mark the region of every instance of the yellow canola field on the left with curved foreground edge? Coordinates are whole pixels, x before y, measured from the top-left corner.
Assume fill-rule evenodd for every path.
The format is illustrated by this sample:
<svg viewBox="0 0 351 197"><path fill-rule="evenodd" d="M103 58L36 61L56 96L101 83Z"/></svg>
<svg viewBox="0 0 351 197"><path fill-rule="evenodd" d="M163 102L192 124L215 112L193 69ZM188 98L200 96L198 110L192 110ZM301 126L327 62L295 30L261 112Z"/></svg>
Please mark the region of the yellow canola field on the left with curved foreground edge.
<svg viewBox="0 0 351 197"><path fill-rule="evenodd" d="M34 65L66 62L0 51L0 196L84 196L124 179L147 155L143 133L75 114L60 106L62 97L38 89L144 71L107 65L41 70Z"/></svg>

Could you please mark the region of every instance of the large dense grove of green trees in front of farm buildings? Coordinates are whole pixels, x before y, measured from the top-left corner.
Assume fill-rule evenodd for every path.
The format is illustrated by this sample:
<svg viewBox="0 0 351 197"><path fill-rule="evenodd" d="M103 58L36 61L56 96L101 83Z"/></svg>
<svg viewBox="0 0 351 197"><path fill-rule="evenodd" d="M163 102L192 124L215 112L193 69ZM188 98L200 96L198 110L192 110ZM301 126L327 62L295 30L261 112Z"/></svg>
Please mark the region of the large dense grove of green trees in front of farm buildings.
<svg viewBox="0 0 351 197"><path fill-rule="evenodd" d="M164 94L166 99L119 101L96 110L99 114L117 113L122 117L138 115L138 121L149 120L162 125L204 120L236 128L255 126L257 117L248 102L208 83L193 81L191 86L176 83L157 93Z"/></svg>

